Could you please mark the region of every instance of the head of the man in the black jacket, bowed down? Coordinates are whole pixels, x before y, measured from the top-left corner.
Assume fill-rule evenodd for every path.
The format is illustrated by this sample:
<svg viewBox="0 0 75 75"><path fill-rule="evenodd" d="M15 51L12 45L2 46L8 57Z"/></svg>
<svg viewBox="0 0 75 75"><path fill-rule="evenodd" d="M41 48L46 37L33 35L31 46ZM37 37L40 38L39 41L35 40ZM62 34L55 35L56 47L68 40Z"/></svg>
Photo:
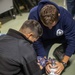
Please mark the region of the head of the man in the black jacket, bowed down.
<svg viewBox="0 0 75 75"><path fill-rule="evenodd" d="M41 25L36 20L25 21L19 31L32 42L36 41L43 33Z"/></svg>

